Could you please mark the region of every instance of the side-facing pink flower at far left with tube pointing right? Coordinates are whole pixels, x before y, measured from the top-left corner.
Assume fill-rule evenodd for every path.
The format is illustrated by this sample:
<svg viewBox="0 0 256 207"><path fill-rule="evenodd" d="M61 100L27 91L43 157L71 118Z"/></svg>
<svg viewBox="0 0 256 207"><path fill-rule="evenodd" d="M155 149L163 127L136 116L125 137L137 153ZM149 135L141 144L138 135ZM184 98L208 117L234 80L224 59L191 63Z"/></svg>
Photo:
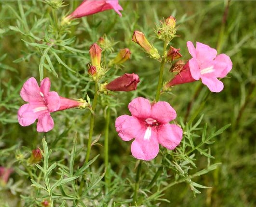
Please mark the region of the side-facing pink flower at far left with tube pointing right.
<svg viewBox="0 0 256 207"><path fill-rule="evenodd" d="M54 120L50 113L72 107L82 107L82 101L60 97L57 92L50 91L51 82L44 78L40 87L35 78L29 78L23 85L20 96L27 104L18 110L18 121L22 126L28 126L38 119L37 131L48 132L54 128Z"/></svg>

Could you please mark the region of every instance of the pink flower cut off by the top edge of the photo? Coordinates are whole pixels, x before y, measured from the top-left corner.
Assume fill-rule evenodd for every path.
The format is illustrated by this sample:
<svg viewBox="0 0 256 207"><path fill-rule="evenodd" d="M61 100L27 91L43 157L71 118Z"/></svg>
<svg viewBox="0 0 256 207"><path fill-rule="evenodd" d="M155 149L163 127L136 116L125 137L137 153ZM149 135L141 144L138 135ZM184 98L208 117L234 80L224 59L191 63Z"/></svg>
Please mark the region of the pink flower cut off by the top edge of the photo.
<svg viewBox="0 0 256 207"><path fill-rule="evenodd" d="M109 9L115 10L120 16L122 15L119 12L119 10L122 10L122 7L119 5L118 0L83 0L78 8L67 18L79 18Z"/></svg>

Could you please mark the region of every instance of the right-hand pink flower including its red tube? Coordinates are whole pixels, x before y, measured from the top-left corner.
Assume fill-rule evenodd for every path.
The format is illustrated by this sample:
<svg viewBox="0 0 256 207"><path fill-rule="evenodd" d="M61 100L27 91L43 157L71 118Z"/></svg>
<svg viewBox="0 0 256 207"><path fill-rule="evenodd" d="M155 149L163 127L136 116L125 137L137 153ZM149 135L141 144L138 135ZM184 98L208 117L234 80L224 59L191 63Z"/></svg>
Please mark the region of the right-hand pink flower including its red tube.
<svg viewBox="0 0 256 207"><path fill-rule="evenodd" d="M200 42L196 43L196 48L190 41L187 42L187 46L189 53L192 55L192 58L189 60L189 70L177 74L172 80L173 84L169 83L169 86L201 79L202 83L207 85L210 91L222 91L224 85L217 78L225 77L232 69L232 62L229 56L225 54L217 55L216 49ZM181 78L182 75L185 75L185 77ZM184 82L181 83L181 79Z"/></svg>

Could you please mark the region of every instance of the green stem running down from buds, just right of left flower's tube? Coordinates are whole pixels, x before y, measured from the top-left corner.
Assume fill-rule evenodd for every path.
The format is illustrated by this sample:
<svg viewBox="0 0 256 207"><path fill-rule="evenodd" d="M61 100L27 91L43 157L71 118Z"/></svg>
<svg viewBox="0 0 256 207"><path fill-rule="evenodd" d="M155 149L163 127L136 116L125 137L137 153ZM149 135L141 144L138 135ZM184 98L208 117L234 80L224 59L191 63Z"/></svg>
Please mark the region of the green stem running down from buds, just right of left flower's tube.
<svg viewBox="0 0 256 207"><path fill-rule="evenodd" d="M93 100L93 106L92 106L93 111L95 111L95 108L96 108L97 97L98 97L98 82L95 81L95 92L94 92L94 100ZM92 139L93 139L93 131L94 131L94 113L91 113L90 131L89 131L89 138L88 138L85 162L88 162L89 157L90 157L90 152L91 152L91 147L92 147ZM80 184L80 188L79 188L79 195L81 195L81 193L82 193L82 189L83 189L83 186L84 186L84 180L85 180L85 174L83 174L82 179L81 179L81 184Z"/></svg>

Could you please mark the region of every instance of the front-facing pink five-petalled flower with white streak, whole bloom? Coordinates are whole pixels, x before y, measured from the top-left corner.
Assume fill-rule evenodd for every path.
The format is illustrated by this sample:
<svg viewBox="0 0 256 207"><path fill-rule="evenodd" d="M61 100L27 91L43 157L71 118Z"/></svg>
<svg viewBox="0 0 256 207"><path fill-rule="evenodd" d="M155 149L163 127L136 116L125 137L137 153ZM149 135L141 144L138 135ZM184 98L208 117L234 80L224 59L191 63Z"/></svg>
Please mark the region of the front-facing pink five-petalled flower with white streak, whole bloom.
<svg viewBox="0 0 256 207"><path fill-rule="evenodd" d="M132 116L122 115L116 120L116 130L123 141L132 143L132 154L137 159L151 160L159 152L159 144L174 149L182 139L182 129L169 124L176 118L175 110L165 101L152 103L143 97L133 99L128 108Z"/></svg>

